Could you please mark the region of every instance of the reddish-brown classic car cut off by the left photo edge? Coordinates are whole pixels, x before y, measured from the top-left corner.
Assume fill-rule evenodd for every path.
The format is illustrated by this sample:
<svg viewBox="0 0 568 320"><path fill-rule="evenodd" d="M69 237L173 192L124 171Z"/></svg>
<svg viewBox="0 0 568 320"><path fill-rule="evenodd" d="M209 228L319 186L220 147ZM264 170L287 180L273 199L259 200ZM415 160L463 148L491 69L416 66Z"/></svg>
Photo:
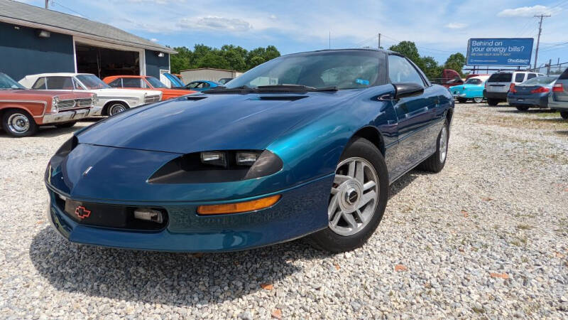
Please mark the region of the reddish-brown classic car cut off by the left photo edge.
<svg viewBox="0 0 568 320"><path fill-rule="evenodd" d="M12 137L28 137L39 126L69 128L94 114L97 95L89 92L26 90L16 80L0 73L0 119Z"/></svg>

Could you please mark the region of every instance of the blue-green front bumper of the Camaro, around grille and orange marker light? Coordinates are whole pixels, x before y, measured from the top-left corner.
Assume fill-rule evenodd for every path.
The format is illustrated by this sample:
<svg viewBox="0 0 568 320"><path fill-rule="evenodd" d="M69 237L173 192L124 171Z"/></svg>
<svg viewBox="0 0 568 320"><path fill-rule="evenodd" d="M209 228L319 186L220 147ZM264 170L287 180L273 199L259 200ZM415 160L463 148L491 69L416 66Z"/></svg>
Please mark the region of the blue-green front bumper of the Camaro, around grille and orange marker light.
<svg viewBox="0 0 568 320"><path fill-rule="evenodd" d="M327 201L333 177L331 174L276 193L235 200L247 201L273 194L282 195L280 201L270 208L229 215L197 215L197 206L231 201L105 202L118 206L165 208L168 212L168 225L158 231L111 229L78 223L56 201L55 197L60 192L56 193L48 185L48 220L67 240L87 245L171 252L246 250L293 240L327 228ZM73 200L92 202L92 199Z"/></svg>

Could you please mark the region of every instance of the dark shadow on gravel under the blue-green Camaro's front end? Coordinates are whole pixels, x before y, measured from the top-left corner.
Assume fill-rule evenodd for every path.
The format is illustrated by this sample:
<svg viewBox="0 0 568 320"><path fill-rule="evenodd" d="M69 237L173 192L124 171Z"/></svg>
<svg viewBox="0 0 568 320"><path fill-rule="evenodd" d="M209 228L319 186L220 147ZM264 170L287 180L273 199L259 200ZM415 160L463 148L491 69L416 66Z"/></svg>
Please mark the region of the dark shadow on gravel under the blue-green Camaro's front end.
<svg viewBox="0 0 568 320"><path fill-rule="evenodd" d="M75 245L52 228L35 235L29 254L35 269L55 289L173 306L238 299L262 290L261 284L273 284L300 272L295 260L332 257L302 240L228 253L120 250ZM322 263L334 267L332 262Z"/></svg>

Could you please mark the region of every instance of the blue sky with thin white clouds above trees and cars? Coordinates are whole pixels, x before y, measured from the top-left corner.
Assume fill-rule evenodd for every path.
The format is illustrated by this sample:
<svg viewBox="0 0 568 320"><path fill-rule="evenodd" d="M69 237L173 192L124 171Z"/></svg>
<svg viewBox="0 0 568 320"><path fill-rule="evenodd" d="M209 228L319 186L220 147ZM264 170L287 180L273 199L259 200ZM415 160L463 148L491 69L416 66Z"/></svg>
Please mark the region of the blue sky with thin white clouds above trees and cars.
<svg viewBox="0 0 568 320"><path fill-rule="evenodd" d="M532 16L551 14L543 23L538 64L568 62L568 0L50 0L50 9L190 48L274 45L294 53L328 48L330 32L332 48L376 47L376 34L382 33L381 46L414 41L420 55L439 63L452 53L465 54L468 38L534 37L536 46L538 23Z"/></svg>

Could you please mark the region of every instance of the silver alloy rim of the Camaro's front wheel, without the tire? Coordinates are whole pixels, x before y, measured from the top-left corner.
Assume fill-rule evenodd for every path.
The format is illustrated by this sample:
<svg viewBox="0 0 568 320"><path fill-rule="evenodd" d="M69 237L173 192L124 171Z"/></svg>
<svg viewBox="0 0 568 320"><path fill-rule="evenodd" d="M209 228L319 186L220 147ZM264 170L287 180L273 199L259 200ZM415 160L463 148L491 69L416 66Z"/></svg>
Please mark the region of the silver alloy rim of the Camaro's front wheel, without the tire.
<svg viewBox="0 0 568 320"><path fill-rule="evenodd" d="M378 188L378 175L366 159L353 157L341 161L327 208L329 228L338 235L359 233L375 213Z"/></svg>

